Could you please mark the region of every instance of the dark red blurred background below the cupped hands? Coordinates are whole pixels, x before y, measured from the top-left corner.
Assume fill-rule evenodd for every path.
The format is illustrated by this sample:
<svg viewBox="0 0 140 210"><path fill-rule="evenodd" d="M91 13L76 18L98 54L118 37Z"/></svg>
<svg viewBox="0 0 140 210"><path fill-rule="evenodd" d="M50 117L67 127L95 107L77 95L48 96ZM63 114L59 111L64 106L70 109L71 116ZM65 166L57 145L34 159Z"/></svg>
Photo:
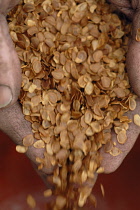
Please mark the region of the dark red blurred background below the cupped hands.
<svg viewBox="0 0 140 210"><path fill-rule="evenodd" d="M100 183L105 188L104 198ZM36 199L35 210L45 210L45 189L30 161L25 155L18 154L15 144L0 132L0 210L28 210L28 194ZM99 175L94 194L98 202L96 210L140 209L140 137L116 172ZM88 210L92 209L88 207Z"/></svg>

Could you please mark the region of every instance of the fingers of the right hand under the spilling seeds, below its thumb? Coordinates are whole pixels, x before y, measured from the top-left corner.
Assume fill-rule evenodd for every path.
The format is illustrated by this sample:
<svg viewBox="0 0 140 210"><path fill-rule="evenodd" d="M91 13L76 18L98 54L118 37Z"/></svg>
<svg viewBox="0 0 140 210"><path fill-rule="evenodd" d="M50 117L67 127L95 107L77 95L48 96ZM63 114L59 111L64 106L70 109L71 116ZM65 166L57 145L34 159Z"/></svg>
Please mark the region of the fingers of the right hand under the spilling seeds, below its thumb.
<svg viewBox="0 0 140 210"><path fill-rule="evenodd" d="M105 169L105 173L114 172L123 162L126 155L132 149L134 143L136 142L138 135L140 133L140 127L133 123L133 118L135 114L140 113L140 99L137 99L137 107L134 111L129 111L126 115L132 120L129 124L129 129L127 130L127 142L125 144L119 144L117 141L116 134L112 132L112 141L115 142L116 147L121 150L121 154L114 157L109 153L105 153L104 148L101 149L102 156L102 166Z"/></svg>

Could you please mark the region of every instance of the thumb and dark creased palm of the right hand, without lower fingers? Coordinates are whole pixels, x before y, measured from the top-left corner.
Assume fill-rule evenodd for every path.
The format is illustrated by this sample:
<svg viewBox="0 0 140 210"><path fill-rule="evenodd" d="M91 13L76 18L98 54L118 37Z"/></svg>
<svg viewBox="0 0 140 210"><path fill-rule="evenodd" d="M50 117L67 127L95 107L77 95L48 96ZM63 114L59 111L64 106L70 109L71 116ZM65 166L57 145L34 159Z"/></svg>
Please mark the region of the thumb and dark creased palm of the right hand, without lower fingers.
<svg viewBox="0 0 140 210"><path fill-rule="evenodd" d="M132 20L132 33L128 46L126 66L131 87L140 96L140 0L109 1Z"/></svg>

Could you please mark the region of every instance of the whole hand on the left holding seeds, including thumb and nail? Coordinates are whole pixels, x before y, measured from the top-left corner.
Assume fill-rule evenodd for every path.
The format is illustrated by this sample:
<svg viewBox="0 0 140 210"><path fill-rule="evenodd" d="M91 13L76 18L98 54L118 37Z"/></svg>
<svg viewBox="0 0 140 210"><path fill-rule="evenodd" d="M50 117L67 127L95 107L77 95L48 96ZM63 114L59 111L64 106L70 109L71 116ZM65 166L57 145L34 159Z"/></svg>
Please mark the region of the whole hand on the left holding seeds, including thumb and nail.
<svg viewBox="0 0 140 210"><path fill-rule="evenodd" d="M6 14L20 0L0 0L0 130L9 135L16 144L32 133L31 125L24 119L18 96L21 87L20 62L11 40ZM29 148L27 156L34 162L43 157L44 150ZM50 172L48 166L48 173ZM43 177L42 173L40 175Z"/></svg>

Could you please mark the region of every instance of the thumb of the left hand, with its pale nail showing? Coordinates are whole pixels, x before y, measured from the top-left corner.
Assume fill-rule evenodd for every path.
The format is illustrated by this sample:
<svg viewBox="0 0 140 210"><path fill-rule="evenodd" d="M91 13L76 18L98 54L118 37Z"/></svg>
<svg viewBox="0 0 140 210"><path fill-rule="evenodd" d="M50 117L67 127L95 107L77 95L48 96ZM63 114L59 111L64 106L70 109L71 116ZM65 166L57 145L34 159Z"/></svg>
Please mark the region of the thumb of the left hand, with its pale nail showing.
<svg viewBox="0 0 140 210"><path fill-rule="evenodd" d="M21 87L20 62L6 18L0 14L0 108L15 103Z"/></svg>

